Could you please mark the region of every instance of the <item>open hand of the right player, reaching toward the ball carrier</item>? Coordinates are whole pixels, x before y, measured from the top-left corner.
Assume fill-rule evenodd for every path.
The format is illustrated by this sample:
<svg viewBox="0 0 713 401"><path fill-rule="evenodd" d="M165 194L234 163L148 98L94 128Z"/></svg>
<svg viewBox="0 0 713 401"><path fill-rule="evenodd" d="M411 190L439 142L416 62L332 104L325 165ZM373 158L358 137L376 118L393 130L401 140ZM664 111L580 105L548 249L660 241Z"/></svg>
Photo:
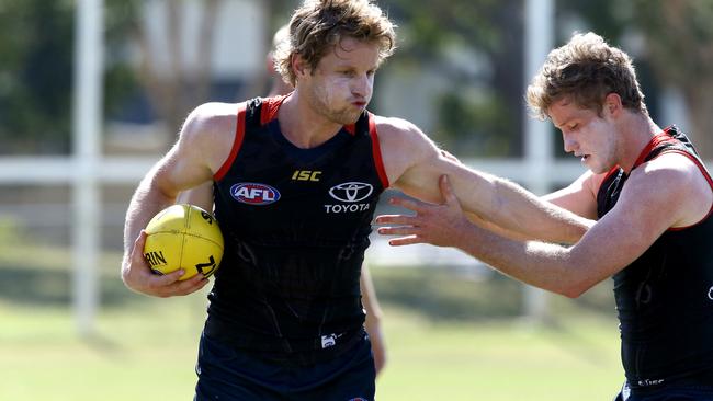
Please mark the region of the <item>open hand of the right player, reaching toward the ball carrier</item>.
<svg viewBox="0 0 713 401"><path fill-rule="evenodd" d="M442 205L428 204L415 199L392 198L393 205L403 206L416 211L416 215L382 215L376 217L380 225L399 225L397 227L381 227L377 232L383 236L400 236L388 241L389 245L409 245L414 243L431 243L439 247L456 247L461 234L472 227L455 197L446 175L439 180L441 195L445 199Z"/></svg>

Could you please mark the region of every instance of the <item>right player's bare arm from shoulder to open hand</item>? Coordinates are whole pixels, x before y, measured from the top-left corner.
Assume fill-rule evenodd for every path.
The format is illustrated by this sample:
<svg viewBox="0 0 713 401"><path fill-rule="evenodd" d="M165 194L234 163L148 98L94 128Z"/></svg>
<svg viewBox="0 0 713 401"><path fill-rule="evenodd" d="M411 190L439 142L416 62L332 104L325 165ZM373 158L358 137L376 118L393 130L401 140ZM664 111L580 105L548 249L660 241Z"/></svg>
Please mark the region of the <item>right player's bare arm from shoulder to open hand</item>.
<svg viewBox="0 0 713 401"><path fill-rule="evenodd" d="M378 232L399 236L389 241L394 245L428 242L455 247L508 276L578 297L631 264L667 229L688 227L706 216L708 184L700 177L698 185L691 184L690 172L665 164L665 159L675 157L683 158L659 157L635 170L614 208L571 247L513 240L471 224L446 179L440 181L443 205L403 202L401 206L416 215L380 216L378 224L404 226L380 228ZM697 193L701 187L709 191L703 206Z"/></svg>

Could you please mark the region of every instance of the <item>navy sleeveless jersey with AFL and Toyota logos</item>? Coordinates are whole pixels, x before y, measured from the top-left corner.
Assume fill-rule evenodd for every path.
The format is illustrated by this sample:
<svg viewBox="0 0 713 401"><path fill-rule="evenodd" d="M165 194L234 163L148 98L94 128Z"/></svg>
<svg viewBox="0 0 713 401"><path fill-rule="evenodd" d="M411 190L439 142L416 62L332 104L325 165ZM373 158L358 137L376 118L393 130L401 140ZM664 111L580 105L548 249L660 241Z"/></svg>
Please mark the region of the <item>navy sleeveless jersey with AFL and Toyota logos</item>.
<svg viewBox="0 0 713 401"><path fill-rule="evenodd" d="M214 177L225 254L205 330L268 358L313 363L363 337L361 264L388 182L373 115L299 149L280 130L284 99L240 105Z"/></svg>

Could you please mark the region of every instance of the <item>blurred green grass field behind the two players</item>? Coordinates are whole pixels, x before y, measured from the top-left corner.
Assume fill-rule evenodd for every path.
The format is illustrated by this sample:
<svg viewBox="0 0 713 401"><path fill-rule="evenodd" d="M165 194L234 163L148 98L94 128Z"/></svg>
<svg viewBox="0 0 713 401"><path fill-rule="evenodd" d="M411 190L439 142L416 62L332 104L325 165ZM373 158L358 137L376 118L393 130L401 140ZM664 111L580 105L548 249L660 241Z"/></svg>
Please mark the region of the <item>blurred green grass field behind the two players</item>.
<svg viewBox="0 0 713 401"><path fill-rule="evenodd" d="M95 333L80 339L66 252L0 247L0 400L192 399L205 293L139 296L121 284L118 255L101 264ZM552 296L547 323L532 324L519 317L519 285L503 277L372 275L388 351L378 400L609 400L622 381L607 288Z"/></svg>

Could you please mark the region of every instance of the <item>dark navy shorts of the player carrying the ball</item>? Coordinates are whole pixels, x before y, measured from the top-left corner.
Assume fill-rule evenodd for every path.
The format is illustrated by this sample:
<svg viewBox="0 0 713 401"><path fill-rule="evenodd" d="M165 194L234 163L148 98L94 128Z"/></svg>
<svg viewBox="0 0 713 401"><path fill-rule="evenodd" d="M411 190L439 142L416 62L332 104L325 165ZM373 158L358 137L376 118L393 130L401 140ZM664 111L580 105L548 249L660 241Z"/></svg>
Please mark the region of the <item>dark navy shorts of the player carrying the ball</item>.
<svg viewBox="0 0 713 401"><path fill-rule="evenodd" d="M282 366L201 336L194 401L373 401L376 371L369 336L333 360Z"/></svg>

